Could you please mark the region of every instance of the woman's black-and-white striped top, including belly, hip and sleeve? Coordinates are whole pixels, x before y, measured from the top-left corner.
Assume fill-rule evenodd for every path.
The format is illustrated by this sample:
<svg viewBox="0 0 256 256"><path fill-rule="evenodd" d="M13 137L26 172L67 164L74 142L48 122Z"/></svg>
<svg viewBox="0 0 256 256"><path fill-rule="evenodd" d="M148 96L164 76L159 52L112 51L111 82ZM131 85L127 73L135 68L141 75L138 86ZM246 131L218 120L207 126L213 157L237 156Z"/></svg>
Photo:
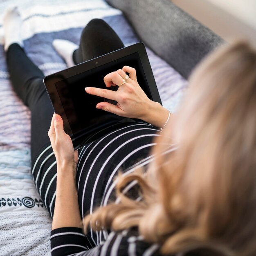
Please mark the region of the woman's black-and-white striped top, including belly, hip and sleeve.
<svg viewBox="0 0 256 256"><path fill-rule="evenodd" d="M154 126L143 122L128 123L113 129L107 135L96 139L79 150L76 185L79 209L82 218L92 213L96 207L104 206L115 198L115 176L132 173L136 168L146 166L153 160L150 155L155 138L160 132ZM170 145L170 150L173 146ZM32 174L36 187L49 213L53 216L56 196L56 159L51 146L38 156ZM136 185L131 182L124 192ZM139 198L138 198L139 199ZM158 246L146 243L136 229L122 232L65 227L51 232L51 252L61 255L159 255Z"/></svg>

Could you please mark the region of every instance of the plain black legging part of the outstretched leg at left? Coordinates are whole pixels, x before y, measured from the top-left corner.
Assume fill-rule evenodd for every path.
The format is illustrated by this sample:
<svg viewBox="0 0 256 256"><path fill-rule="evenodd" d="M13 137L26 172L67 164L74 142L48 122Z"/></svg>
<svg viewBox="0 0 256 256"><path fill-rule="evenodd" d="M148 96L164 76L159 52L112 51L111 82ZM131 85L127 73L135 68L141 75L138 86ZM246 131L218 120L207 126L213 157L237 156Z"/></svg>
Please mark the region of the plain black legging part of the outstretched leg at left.
<svg viewBox="0 0 256 256"><path fill-rule="evenodd" d="M31 160L49 144L47 130L53 108L43 84L44 74L16 43L7 50L7 66L15 92L31 110Z"/></svg>

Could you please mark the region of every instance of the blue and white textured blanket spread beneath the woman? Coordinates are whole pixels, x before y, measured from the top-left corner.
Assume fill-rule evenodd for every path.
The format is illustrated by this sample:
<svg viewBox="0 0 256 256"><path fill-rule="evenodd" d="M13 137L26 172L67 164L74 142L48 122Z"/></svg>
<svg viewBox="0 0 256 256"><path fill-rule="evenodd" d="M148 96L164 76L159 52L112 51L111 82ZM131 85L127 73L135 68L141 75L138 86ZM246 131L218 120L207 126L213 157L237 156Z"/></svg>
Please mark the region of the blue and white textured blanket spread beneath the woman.
<svg viewBox="0 0 256 256"><path fill-rule="evenodd" d="M108 22L126 46L138 39L121 11L103 0L0 0L0 255L43 256L50 255L52 219L30 173L30 112L12 89L3 50L2 17L11 5L21 12L25 51L45 74L66 68L52 40L79 44L81 30L92 18ZM163 105L175 111L187 83L147 52Z"/></svg>

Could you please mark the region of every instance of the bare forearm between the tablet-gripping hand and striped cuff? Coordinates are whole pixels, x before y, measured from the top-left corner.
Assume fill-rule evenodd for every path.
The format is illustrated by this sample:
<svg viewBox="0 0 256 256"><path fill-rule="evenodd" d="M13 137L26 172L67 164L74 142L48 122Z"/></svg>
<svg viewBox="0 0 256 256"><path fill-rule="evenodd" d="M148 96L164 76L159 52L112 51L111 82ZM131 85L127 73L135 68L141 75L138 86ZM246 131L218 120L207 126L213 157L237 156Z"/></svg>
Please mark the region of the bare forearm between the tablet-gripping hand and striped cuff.
<svg viewBox="0 0 256 256"><path fill-rule="evenodd" d="M60 227L80 227L77 190L72 166L63 165L57 170L56 200L52 229Z"/></svg>

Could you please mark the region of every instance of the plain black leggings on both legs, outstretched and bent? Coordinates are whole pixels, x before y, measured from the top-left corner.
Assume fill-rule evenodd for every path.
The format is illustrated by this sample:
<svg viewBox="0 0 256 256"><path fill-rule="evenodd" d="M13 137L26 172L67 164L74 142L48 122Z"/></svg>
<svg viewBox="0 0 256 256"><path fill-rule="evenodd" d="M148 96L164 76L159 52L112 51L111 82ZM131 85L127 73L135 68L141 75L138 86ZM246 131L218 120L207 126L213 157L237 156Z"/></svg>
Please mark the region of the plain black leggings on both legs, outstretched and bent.
<svg viewBox="0 0 256 256"><path fill-rule="evenodd" d="M103 20L91 20L83 29L80 46L73 54L75 64L123 48L115 31ZM15 92L31 110L31 166L49 146L47 135L54 109L43 84L44 74L16 43L7 51L7 66Z"/></svg>

